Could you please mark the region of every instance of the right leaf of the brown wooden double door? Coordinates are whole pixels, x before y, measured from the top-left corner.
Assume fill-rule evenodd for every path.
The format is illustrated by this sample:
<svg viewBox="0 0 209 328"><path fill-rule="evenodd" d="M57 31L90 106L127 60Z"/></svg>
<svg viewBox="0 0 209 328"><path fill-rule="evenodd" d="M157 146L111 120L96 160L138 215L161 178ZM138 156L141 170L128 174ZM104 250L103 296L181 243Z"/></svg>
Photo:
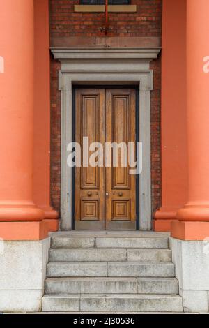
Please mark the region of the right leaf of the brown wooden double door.
<svg viewBox="0 0 209 328"><path fill-rule="evenodd" d="M105 168L106 229L135 230L136 176L130 175L127 156L130 143L134 152L136 148L136 92L134 89L106 90L105 132L106 142L116 143L114 151L111 150L111 165ZM114 154L118 156L114 157ZM107 156L109 155L106 151L106 158Z"/></svg>

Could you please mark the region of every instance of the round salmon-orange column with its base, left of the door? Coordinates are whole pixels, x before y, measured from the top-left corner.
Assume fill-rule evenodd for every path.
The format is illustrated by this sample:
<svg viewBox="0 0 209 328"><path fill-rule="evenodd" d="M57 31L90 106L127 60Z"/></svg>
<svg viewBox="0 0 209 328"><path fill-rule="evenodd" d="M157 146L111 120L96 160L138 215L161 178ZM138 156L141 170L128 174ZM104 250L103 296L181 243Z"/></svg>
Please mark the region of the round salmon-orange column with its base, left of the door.
<svg viewBox="0 0 209 328"><path fill-rule="evenodd" d="M41 239L33 203L33 0L0 1L0 237Z"/></svg>

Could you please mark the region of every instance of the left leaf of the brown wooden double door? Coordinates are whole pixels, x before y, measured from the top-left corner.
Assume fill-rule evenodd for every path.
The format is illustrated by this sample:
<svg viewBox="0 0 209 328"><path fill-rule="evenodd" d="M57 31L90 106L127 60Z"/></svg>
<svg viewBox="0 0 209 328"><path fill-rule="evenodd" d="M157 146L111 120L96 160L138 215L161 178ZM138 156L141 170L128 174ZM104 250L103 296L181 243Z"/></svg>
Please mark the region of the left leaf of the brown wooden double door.
<svg viewBox="0 0 209 328"><path fill-rule="evenodd" d="M99 142L104 149L104 125L104 89L76 89L75 142L81 146L82 164L75 168L76 230L104 229L104 165L93 167L89 163L84 163L86 156L83 154L84 140L88 145ZM89 151L88 158L91 158L95 150ZM104 153L102 155L104 158Z"/></svg>

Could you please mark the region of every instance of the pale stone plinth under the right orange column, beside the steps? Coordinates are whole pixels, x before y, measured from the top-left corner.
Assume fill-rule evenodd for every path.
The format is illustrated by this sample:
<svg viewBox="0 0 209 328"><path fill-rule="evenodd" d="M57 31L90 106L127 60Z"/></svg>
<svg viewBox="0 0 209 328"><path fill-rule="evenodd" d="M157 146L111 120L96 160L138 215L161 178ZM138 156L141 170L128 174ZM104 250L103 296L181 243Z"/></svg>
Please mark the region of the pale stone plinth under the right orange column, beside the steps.
<svg viewBox="0 0 209 328"><path fill-rule="evenodd" d="M170 239L172 262L185 312L209 312L208 246L209 241Z"/></svg>

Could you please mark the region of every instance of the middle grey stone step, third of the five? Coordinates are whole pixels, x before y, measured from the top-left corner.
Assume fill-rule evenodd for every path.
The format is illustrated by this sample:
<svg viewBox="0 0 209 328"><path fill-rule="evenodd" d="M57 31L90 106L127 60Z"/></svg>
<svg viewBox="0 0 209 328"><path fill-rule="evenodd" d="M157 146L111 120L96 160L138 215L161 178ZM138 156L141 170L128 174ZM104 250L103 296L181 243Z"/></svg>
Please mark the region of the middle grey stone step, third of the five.
<svg viewBox="0 0 209 328"><path fill-rule="evenodd" d="M50 262L48 277L174 277L173 263Z"/></svg>

